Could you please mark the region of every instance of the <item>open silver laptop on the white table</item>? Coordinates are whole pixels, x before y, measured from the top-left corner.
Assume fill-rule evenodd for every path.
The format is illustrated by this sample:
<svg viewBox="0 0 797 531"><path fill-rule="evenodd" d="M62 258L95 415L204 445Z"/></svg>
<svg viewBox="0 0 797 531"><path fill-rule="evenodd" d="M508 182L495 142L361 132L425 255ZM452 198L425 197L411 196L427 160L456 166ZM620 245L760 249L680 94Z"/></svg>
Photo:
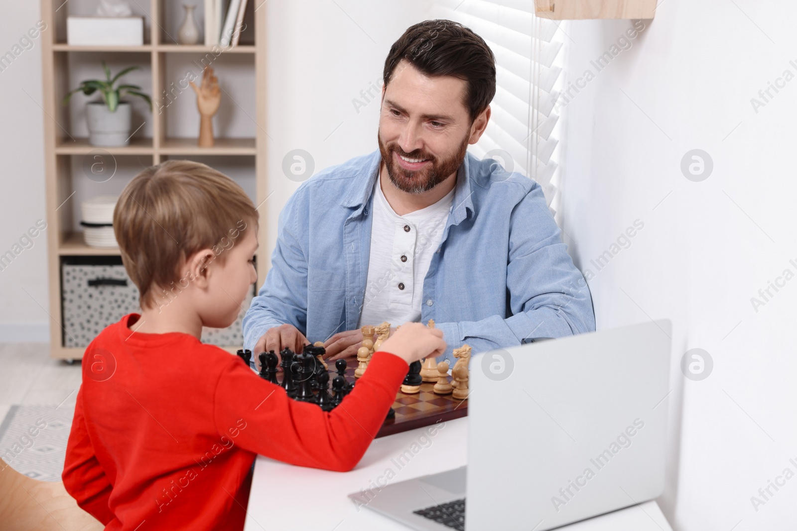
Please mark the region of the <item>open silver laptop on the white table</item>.
<svg viewBox="0 0 797 531"><path fill-rule="evenodd" d="M470 360L468 465L349 494L411 529L545 531L664 490L669 320Z"/></svg>

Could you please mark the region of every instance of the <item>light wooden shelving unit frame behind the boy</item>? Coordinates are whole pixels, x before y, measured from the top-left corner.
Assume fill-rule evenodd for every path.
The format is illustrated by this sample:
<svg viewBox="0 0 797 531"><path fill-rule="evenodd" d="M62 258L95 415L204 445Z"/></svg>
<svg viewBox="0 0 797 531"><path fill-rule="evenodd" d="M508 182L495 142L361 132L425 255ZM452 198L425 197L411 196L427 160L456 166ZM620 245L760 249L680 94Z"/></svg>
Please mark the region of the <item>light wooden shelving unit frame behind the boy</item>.
<svg viewBox="0 0 797 531"><path fill-rule="evenodd" d="M146 2L146 0L145 0ZM146 6L145 2L140 2ZM257 260L258 283L262 283L267 272L268 260L265 260L266 232L265 198L268 196L266 189L266 161L265 161L265 13L266 10L254 10L253 0L249 0L249 17L253 19L254 27L249 27L248 41L254 44L242 44L229 49L218 46L205 45L179 45L172 42L165 29L166 7L171 3L179 4L177 0L148 0L149 12L146 16L145 36L146 44L141 46L73 46L66 41L66 17L69 4L63 0L41 0L41 18L47 24L48 31L42 32L42 83L45 110L45 189L47 196L47 246L48 246L48 276L49 276L49 314L53 318L50 326L50 353L51 357L60 359L79 359L83 356L82 348L66 348L63 346L63 331L61 323L61 261L67 256L119 256L118 248L92 248L84 244L82 233L77 231L73 223L74 209L80 209L80 204L74 201L72 194L76 187L75 179L84 178L75 174L75 158L84 158L94 150L104 150L114 157L133 156L136 160L142 159L147 163L159 164L167 158L195 158L195 157L245 157L247 161L253 160L256 178L256 204L261 205L258 212L261 216L260 223L260 251L264 256ZM136 4L138 5L138 4ZM253 13L252 13L253 12ZM253 32L253 39L251 36ZM243 35L241 36L244 39ZM88 139L77 138L71 134L69 112L61 105L61 99L70 88L76 85L75 80L69 78L69 57L73 54L89 54L96 58L100 64L103 56L108 54L130 54L130 64L141 64L147 61L151 68L151 86L144 87L144 92L152 96L154 109L148 119L151 119L152 137L142 138L134 136L128 146L98 147L88 143ZM254 83L252 91L256 95L255 108L247 109L246 113L255 121L254 136L252 138L217 138L216 145L212 148L200 148L196 139L172 138L168 135L166 116L159 113L155 100L159 99L167 88L167 57L171 54L194 54L197 59L212 54L222 57L225 54L234 54L237 57L250 56L253 69ZM189 89L190 90L190 89ZM193 98L193 96L191 96ZM166 112L171 112L168 110ZM192 115L192 120L198 120L198 115ZM218 134L218 133L217 133ZM259 286L258 286L259 287ZM224 347L234 352L240 346Z"/></svg>

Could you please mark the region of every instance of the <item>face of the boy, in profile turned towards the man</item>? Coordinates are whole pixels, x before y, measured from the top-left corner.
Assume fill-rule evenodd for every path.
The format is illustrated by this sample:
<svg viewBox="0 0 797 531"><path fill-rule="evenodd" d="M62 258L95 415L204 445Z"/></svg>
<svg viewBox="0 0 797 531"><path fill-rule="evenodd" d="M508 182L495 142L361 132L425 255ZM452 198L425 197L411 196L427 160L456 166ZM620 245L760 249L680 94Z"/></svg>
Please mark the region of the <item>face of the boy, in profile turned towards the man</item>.
<svg viewBox="0 0 797 531"><path fill-rule="evenodd" d="M234 245L223 251L225 260L214 260L210 264L206 296L202 298L202 307L198 308L203 326L226 328L238 318L246 292L257 281L253 262L257 250L256 231L257 225L247 223Z"/></svg>

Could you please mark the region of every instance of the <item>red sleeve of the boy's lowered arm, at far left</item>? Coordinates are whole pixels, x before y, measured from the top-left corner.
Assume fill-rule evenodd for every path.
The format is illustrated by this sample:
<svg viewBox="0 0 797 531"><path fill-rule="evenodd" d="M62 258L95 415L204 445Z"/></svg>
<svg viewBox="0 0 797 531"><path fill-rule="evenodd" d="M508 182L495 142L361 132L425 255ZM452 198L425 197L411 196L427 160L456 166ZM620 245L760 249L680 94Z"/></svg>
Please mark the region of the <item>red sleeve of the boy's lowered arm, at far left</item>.
<svg viewBox="0 0 797 531"><path fill-rule="evenodd" d="M61 473L66 491L77 500L81 509L91 514L103 524L113 520L113 513L108 509L108 497L111 495L111 482L100 467L94 455L94 447L88 439L85 418L83 416L82 388L77 392L75 416L72 420L72 431L66 445L64 471Z"/></svg>

